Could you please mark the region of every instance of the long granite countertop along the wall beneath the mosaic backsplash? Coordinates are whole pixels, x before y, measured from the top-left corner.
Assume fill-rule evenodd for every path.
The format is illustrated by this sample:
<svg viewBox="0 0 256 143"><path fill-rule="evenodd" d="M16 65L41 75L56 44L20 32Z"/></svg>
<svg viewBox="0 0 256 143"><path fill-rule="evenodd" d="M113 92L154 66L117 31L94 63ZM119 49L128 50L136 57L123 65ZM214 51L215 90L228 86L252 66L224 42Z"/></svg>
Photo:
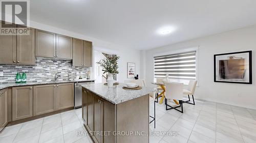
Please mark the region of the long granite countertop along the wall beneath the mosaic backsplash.
<svg viewBox="0 0 256 143"><path fill-rule="evenodd" d="M40 84L56 84L56 83L70 83L70 82L92 82L94 79L73 79L73 80L57 80L57 81L45 81L45 82L26 82L26 83L5 83L0 84L0 90L9 87L19 87L26 85L40 85Z"/></svg>

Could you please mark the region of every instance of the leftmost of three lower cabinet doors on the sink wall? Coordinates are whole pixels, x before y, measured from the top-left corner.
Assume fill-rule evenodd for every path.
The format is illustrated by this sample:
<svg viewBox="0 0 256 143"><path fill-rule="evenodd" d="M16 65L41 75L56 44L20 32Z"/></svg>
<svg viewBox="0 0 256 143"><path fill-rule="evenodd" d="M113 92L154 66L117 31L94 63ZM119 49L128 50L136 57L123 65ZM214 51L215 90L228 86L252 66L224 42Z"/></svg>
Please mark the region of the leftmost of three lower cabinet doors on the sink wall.
<svg viewBox="0 0 256 143"><path fill-rule="evenodd" d="M12 121L33 116L33 87L12 88Z"/></svg>

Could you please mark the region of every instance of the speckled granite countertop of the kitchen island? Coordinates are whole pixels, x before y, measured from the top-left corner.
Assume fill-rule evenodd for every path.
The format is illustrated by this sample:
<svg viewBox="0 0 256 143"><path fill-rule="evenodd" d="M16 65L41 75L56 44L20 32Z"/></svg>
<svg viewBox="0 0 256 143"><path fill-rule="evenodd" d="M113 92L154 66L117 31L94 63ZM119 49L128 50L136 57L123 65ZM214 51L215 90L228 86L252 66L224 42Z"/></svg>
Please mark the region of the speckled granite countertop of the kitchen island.
<svg viewBox="0 0 256 143"><path fill-rule="evenodd" d="M113 104L119 104L156 92L156 89L147 87L142 87L141 90L124 90L122 89L124 85L124 83L119 83L113 88L108 88L108 86L103 83L89 83L81 86Z"/></svg>

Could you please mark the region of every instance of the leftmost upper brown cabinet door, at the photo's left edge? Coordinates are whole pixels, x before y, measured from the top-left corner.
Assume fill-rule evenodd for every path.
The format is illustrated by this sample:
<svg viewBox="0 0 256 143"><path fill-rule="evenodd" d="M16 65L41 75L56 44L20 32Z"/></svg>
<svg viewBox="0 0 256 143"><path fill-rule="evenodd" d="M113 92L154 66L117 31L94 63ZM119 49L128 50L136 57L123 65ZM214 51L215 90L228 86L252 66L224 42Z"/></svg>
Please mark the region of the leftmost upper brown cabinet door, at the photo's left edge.
<svg viewBox="0 0 256 143"><path fill-rule="evenodd" d="M0 35L0 63L16 64L16 35Z"/></svg>

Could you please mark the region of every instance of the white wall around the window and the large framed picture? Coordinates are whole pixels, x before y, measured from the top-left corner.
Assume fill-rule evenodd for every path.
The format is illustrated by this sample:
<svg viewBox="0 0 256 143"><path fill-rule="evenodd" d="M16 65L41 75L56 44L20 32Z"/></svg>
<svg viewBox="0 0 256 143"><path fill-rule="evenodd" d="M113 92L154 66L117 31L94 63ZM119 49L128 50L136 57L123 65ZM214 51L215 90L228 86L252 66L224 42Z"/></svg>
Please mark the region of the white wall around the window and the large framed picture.
<svg viewBox="0 0 256 143"><path fill-rule="evenodd" d="M146 66L141 73L145 74L147 84L152 85L150 82L154 80L154 54L195 46L199 46L197 59L199 86L195 97L256 109L256 25L145 51ZM245 50L252 50L253 84L214 82L214 54Z"/></svg>

